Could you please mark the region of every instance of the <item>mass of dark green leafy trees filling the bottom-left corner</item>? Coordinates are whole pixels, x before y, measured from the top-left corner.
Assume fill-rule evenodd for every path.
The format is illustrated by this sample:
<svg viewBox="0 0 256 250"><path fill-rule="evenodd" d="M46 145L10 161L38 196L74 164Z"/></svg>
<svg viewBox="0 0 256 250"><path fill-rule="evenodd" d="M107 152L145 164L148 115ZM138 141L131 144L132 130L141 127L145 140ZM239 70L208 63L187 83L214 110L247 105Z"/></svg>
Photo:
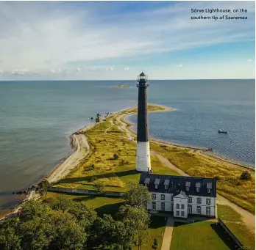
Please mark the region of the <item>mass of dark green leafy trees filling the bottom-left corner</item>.
<svg viewBox="0 0 256 250"><path fill-rule="evenodd" d="M138 203L135 193L143 196ZM146 187L132 186L114 216L99 216L82 202L65 196L26 202L17 218L0 225L0 249L148 249L163 232L163 221L150 221L141 207L146 197Z"/></svg>

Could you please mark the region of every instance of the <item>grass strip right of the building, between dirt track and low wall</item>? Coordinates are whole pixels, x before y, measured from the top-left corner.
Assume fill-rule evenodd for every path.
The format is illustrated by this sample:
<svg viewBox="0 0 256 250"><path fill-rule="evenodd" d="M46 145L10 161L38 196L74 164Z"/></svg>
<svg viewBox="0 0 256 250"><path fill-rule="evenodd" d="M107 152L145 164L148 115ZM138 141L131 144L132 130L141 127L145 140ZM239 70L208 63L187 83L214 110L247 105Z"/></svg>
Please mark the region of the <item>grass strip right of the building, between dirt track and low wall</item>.
<svg viewBox="0 0 256 250"><path fill-rule="evenodd" d="M255 249L255 235L243 223L239 213L230 206L218 205L218 217L224 221L224 224L227 225L244 246Z"/></svg>

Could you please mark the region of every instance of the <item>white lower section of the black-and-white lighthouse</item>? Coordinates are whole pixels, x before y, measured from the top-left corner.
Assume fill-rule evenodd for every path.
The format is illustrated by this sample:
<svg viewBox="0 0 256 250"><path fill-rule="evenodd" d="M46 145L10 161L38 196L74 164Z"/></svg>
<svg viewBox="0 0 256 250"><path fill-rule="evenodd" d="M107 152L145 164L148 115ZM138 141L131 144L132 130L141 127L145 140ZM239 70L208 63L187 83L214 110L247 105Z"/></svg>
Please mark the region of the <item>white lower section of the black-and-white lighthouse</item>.
<svg viewBox="0 0 256 250"><path fill-rule="evenodd" d="M140 172L151 170L149 141L137 141L136 170Z"/></svg>

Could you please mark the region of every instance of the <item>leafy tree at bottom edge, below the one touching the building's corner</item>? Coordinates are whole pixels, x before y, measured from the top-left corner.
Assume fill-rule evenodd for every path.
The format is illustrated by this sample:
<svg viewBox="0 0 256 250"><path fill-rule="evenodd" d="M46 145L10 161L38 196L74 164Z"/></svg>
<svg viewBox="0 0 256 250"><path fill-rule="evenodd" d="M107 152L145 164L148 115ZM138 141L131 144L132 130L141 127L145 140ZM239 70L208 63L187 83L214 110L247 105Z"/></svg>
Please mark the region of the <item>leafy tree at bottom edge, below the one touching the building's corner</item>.
<svg viewBox="0 0 256 250"><path fill-rule="evenodd" d="M141 246L146 243L146 239L149 236L149 213L145 208L124 205L120 207L117 217L120 218L125 227L135 230L138 248L141 249Z"/></svg>

